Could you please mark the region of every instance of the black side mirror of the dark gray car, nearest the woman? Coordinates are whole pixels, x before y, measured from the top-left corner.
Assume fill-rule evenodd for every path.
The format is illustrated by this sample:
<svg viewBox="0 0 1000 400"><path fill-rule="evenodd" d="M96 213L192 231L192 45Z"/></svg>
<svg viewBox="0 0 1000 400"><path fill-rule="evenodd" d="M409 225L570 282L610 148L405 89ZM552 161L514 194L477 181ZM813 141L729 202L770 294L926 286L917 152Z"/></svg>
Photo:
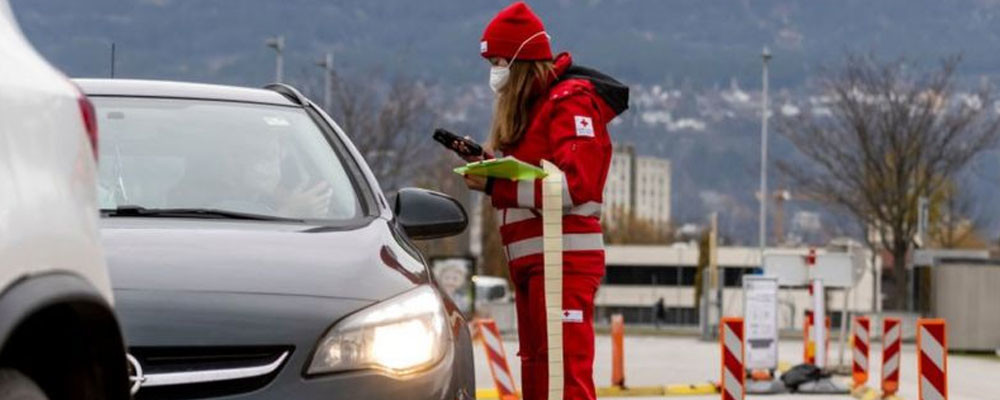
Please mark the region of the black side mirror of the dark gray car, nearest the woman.
<svg viewBox="0 0 1000 400"><path fill-rule="evenodd" d="M399 190L392 203L399 225L414 240L454 236L469 225L462 204L443 193L405 188Z"/></svg>

